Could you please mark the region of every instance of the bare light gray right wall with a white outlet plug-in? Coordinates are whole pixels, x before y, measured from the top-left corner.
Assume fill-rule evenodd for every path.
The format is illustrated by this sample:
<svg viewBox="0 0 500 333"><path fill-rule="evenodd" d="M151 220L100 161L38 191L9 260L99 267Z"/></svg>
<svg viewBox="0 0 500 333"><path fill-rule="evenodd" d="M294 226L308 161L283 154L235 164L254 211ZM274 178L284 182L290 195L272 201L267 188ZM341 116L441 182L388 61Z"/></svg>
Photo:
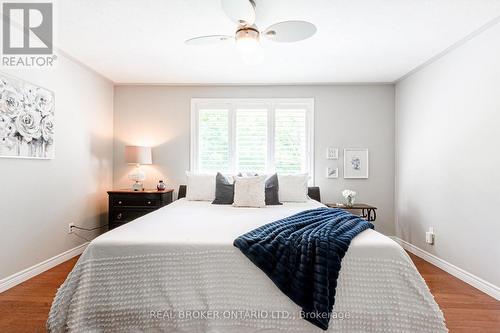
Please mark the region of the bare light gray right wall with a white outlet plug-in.
<svg viewBox="0 0 500 333"><path fill-rule="evenodd" d="M499 36L497 24L396 85L397 235L496 286Z"/></svg>

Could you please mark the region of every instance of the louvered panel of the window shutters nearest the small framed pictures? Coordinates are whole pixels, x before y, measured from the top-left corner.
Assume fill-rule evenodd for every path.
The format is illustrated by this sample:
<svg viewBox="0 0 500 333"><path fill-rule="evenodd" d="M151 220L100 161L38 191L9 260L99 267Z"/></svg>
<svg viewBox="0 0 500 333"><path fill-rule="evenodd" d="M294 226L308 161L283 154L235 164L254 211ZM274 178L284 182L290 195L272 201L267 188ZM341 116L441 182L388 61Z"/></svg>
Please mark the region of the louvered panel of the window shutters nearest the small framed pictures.
<svg viewBox="0 0 500 333"><path fill-rule="evenodd" d="M276 109L274 164L282 174L307 172L306 110Z"/></svg>

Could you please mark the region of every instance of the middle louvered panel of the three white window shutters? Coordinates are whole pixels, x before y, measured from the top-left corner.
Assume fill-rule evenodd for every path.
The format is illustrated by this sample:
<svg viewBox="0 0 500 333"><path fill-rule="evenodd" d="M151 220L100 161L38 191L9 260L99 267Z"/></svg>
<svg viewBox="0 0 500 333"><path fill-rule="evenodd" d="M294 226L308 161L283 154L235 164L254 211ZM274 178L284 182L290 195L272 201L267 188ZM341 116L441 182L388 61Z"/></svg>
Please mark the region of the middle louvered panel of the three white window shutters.
<svg viewBox="0 0 500 333"><path fill-rule="evenodd" d="M267 170L267 110L236 109L237 171Z"/></svg>

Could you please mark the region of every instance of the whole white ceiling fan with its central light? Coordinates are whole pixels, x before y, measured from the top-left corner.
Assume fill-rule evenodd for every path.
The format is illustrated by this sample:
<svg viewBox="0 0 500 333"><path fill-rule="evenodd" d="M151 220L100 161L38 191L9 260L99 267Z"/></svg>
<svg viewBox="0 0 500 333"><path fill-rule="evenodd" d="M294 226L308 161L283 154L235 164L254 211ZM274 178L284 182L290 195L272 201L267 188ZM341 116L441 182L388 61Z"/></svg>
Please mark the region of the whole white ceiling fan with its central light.
<svg viewBox="0 0 500 333"><path fill-rule="evenodd" d="M187 45L207 45L236 41L236 46L243 52L250 52L259 47L263 35L274 42L291 43L307 39L316 33L314 24L306 21L284 21L272 24L262 31L255 25L254 0L221 0L222 9L238 26L232 35L207 35L190 38Z"/></svg>

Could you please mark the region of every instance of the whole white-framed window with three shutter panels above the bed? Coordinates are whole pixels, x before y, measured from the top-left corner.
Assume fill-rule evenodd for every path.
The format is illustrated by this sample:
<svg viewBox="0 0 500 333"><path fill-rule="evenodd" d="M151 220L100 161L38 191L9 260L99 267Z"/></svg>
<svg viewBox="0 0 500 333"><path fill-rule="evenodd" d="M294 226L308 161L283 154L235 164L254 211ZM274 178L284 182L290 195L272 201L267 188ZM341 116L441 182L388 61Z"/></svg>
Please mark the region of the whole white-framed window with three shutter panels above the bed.
<svg viewBox="0 0 500 333"><path fill-rule="evenodd" d="M192 99L191 170L309 173L313 99Z"/></svg>

